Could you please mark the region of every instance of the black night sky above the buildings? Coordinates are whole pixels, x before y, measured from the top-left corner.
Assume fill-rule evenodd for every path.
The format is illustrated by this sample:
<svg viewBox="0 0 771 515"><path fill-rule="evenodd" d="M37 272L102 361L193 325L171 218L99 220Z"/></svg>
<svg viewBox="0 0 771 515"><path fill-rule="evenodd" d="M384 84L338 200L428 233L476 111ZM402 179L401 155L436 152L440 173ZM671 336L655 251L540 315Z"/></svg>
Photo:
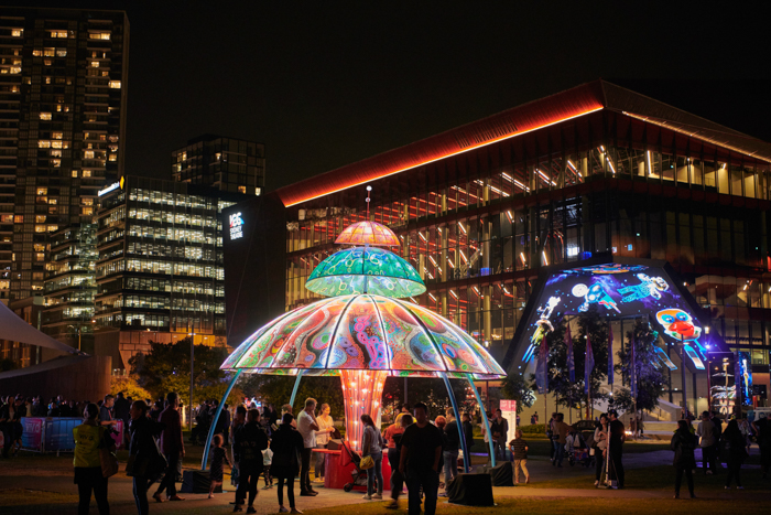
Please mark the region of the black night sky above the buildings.
<svg viewBox="0 0 771 515"><path fill-rule="evenodd" d="M682 3L97 4L131 24L127 172L214 132L264 142L274 189L600 77L771 141L768 24Z"/></svg>

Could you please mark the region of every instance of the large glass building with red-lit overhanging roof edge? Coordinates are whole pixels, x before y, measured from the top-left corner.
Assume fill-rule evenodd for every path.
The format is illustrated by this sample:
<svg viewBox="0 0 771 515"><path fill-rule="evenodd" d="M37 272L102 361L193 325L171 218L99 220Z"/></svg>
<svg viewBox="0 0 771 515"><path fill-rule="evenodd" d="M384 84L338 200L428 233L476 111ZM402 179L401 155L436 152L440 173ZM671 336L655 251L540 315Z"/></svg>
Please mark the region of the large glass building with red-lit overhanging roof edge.
<svg viewBox="0 0 771 515"><path fill-rule="evenodd" d="M366 216L402 240L414 298L501 357L546 265L608 253L667 261L734 350L768 372L771 144L594 82L276 192L285 309Z"/></svg>

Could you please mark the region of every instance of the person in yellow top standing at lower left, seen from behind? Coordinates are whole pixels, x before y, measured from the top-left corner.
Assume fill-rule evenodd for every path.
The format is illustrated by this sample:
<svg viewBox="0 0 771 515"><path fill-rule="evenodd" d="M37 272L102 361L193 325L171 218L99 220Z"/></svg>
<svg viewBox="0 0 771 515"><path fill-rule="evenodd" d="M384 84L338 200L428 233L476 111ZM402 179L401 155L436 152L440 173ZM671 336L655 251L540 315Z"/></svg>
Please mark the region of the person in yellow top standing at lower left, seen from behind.
<svg viewBox="0 0 771 515"><path fill-rule="evenodd" d="M107 502L107 478L101 473L99 449L108 448L115 452L115 440L107 430L99 426L99 407L94 403L86 406L83 423L73 428L75 437L75 484L78 490L78 515L88 515L91 503L91 492L99 508L99 515L109 515L110 505Z"/></svg>

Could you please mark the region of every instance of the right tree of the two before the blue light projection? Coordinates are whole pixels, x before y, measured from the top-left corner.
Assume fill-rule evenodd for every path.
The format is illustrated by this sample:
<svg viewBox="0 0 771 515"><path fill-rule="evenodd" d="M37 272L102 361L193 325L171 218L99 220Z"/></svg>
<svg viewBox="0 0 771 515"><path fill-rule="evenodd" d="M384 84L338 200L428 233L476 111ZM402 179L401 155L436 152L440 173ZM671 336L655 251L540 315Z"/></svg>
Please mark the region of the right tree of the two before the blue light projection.
<svg viewBox="0 0 771 515"><path fill-rule="evenodd" d="M632 398L629 388L622 388L613 394L613 407L617 409L643 409L651 411L659 406L659 396L664 386L669 386L669 377L656 357L659 333L651 329L647 320L638 319L631 331L627 332L627 341L618 353L619 363L616 372L621 373L623 383L631 383L632 347L634 344L634 376L637 377L637 399Z"/></svg>

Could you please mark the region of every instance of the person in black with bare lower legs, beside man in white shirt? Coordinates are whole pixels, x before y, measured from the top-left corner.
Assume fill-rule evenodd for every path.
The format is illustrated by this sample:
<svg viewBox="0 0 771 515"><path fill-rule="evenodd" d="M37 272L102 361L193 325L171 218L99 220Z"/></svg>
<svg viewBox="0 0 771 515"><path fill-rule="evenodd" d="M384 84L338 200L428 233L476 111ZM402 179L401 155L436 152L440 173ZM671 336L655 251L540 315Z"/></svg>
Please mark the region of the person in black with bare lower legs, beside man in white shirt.
<svg viewBox="0 0 771 515"><path fill-rule="evenodd" d="M291 513L303 513L294 505L294 476L300 472L297 454L305 449L305 443L302 434L292 427L293 421L292 414L284 414L271 441L271 449L273 449L271 475L279 480L279 513L290 512L284 507L284 483L286 483Z"/></svg>

